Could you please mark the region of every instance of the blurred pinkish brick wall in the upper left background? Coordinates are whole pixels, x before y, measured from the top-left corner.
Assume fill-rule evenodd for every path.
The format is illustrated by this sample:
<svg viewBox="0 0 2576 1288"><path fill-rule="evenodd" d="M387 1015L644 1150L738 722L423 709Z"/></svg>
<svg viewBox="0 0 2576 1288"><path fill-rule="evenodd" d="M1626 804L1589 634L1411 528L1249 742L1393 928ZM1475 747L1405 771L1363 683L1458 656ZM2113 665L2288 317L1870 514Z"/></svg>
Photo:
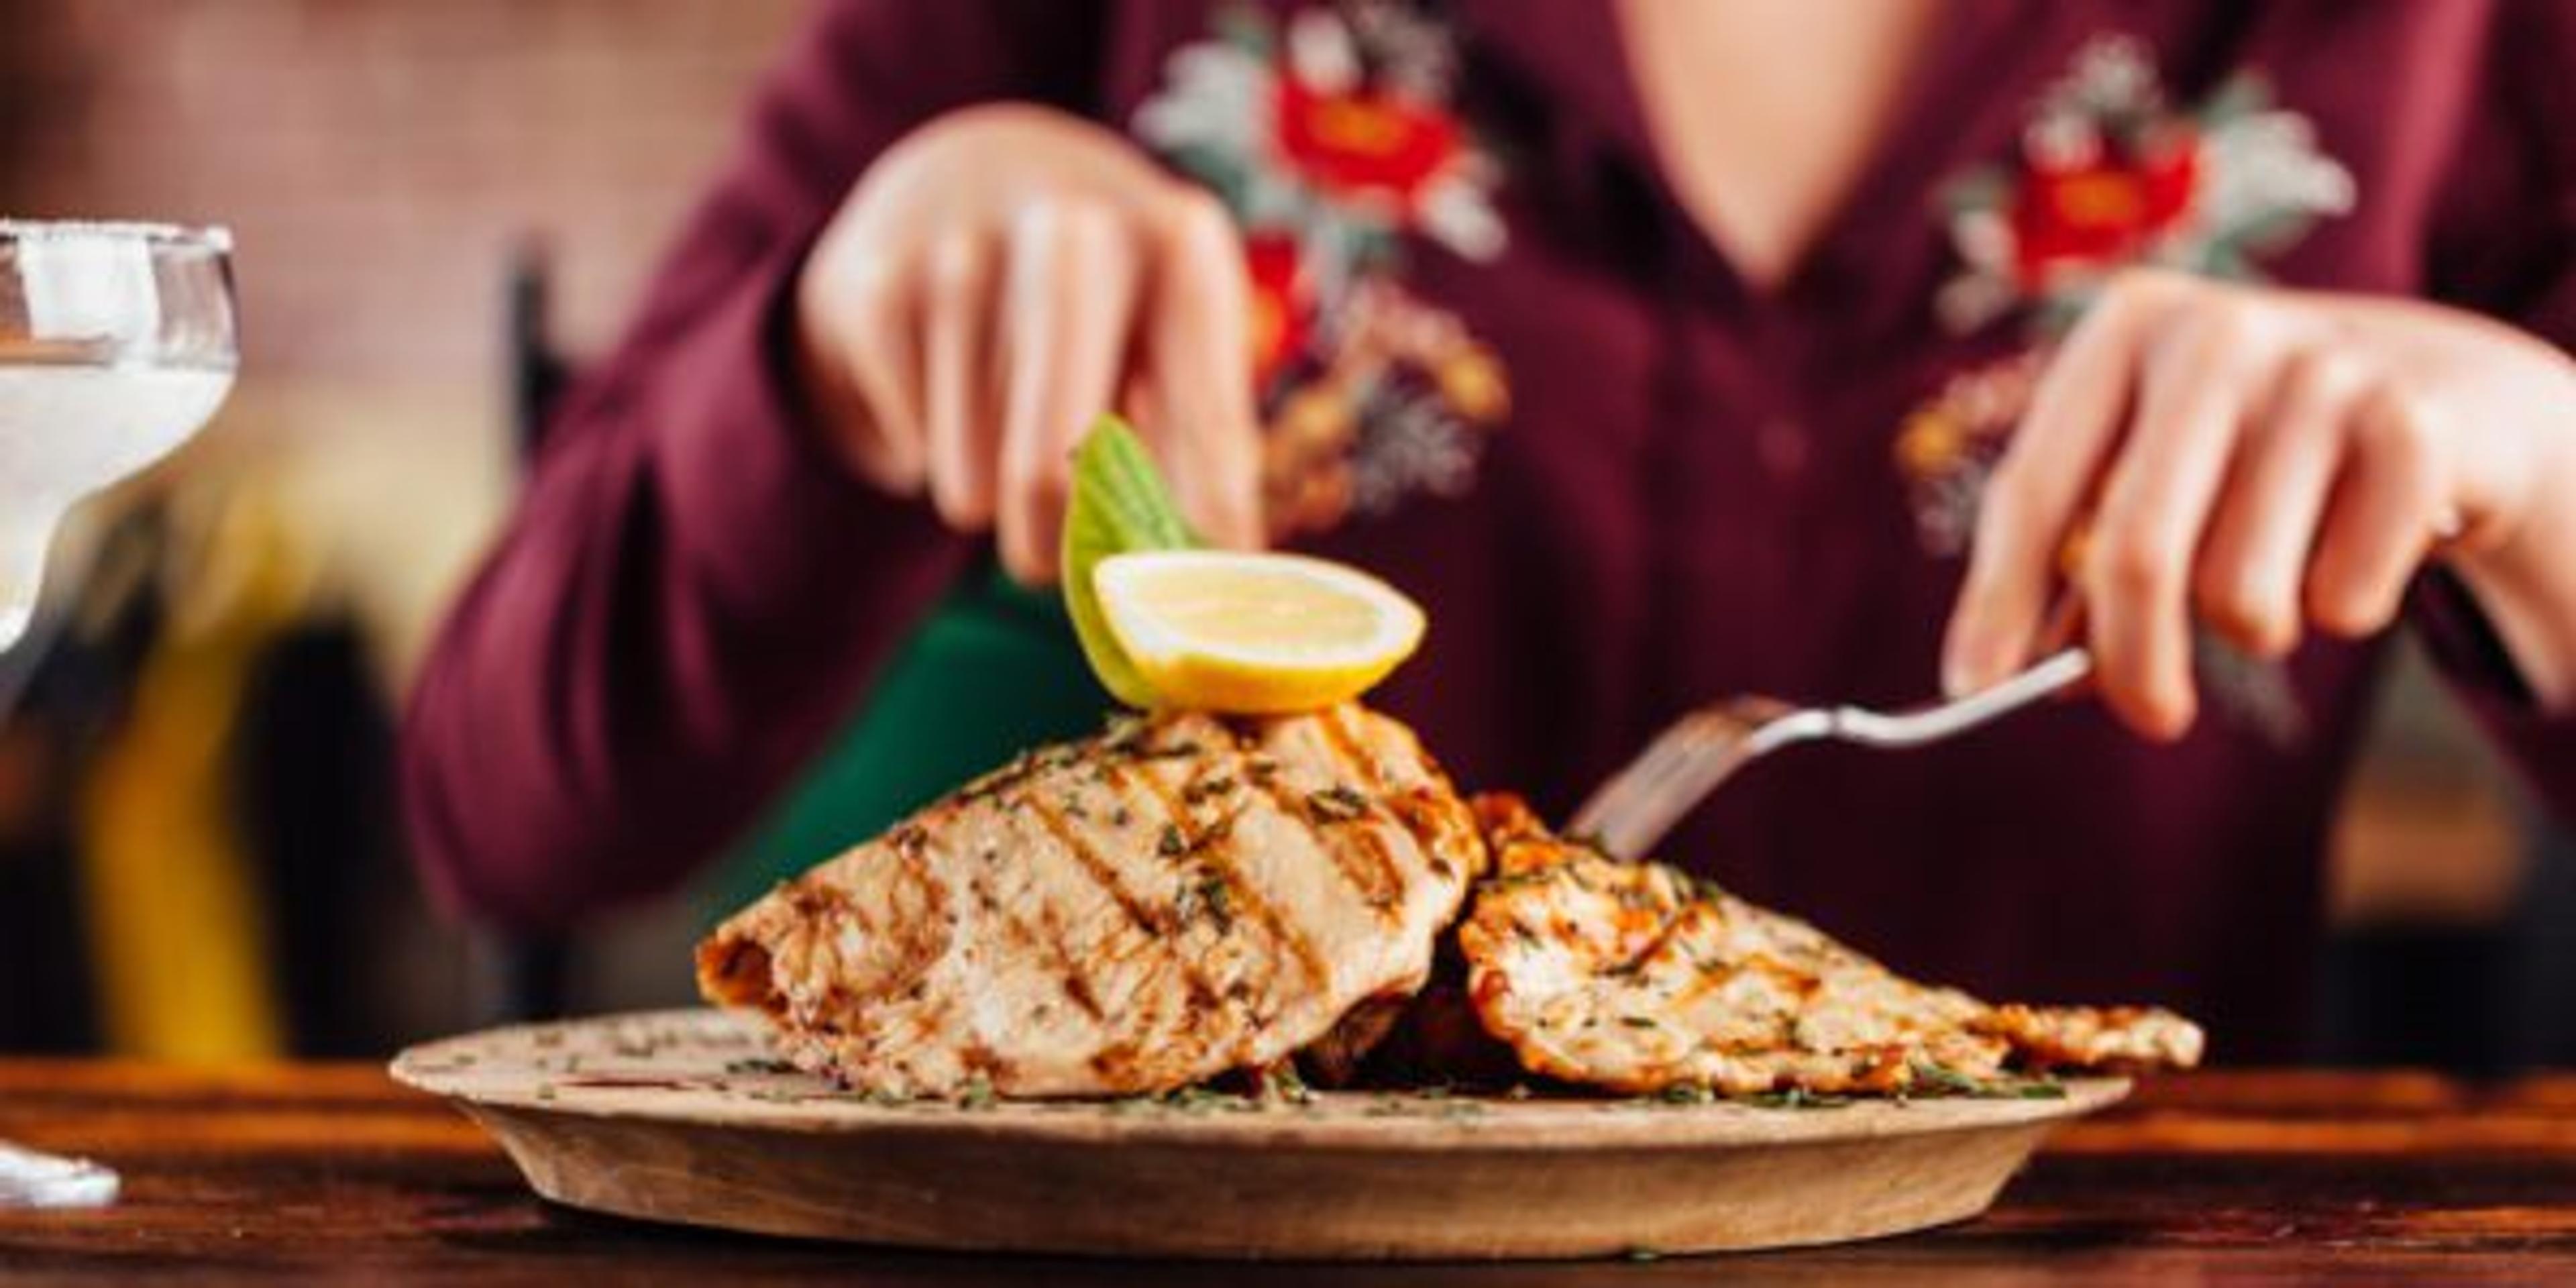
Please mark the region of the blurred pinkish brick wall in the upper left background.
<svg viewBox="0 0 2576 1288"><path fill-rule="evenodd" d="M513 237L605 340L801 8L0 0L0 193L232 224L250 381L489 381Z"/></svg>

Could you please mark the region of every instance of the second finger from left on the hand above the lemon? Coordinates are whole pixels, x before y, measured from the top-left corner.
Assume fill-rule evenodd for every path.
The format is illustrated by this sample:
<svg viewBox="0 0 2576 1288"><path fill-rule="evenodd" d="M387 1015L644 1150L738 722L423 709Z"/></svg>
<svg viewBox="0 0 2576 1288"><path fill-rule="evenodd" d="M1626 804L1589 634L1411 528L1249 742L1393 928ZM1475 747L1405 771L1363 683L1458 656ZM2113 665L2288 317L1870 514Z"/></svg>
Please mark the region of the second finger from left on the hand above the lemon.
<svg viewBox="0 0 2576 1288"><path fill-rule="evenodd" d="M948 232L922 281L922 438L930 500L963 531L992 526L1002 417L992 394L994 245Z"/></svg>

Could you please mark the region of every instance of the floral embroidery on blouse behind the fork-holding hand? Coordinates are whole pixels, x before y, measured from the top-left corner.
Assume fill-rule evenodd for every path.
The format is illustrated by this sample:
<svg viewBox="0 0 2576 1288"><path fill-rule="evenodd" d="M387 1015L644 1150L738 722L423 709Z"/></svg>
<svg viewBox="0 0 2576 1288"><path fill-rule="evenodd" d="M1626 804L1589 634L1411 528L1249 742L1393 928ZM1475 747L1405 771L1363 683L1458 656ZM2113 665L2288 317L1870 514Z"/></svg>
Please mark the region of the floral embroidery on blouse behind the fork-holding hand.
<svg viewBox="0 0 2576 1288"><path fill-rule="evenodd" d="M2239 72L2177 111L2138 41L2099 36L2076 52L2074 70L2043 90L2017 165L1973 170L1942 193L1960 273L1935 299L1940 319L1965 335L2022 312L2032 345L1953 374L1899 428L1896 469L1924 551L1968 551L1978 497L2048 345L2115 270L2259 281L2259 255L2352 201L2352 173L2318 152L2306 116L2272 106L2262 77ZM2303 737L2306 714L2277 665L2213 634L2192 652L2221 711L2282 747Z"/></svg>

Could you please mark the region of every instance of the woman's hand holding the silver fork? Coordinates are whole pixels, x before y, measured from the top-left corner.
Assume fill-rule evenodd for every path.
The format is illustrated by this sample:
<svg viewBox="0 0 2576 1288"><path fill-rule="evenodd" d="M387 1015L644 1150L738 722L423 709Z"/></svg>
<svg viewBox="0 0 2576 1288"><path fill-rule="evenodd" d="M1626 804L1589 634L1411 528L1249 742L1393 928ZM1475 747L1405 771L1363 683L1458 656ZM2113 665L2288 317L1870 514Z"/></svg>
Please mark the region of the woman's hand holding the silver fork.
<svg viewBox="0 0 2576 1288"><path fill-rule="evenodd" d="M2061 551L2105 698L2156 739L2192 724L2192 621L2264 657L2306 626L2362 636L2434 551L2566 701L2576 366L2434 304L2125 273L1986 489L1947 688L2032 657Z"/></svg>

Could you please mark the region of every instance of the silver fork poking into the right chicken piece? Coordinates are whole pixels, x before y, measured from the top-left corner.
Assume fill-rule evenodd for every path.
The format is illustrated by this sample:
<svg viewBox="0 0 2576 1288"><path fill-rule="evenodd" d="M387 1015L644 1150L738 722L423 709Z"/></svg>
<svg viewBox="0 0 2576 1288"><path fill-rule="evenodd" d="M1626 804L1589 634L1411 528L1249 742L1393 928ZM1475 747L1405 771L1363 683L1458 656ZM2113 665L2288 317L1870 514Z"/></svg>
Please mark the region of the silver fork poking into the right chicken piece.
<svg viewBox="0 0 2576 1288"><path fill-rule="evenodd" d="M2004 683L1911 711L1798 708L1777 698L1723 698L1672 721L1643 755L1584 801L1566 835L1587 837L1618 858L1641 858L1718 783L1780 747L1816 739L1922 747L2020 711L2087 675L2092 654L2063 649Z"/></svg>

